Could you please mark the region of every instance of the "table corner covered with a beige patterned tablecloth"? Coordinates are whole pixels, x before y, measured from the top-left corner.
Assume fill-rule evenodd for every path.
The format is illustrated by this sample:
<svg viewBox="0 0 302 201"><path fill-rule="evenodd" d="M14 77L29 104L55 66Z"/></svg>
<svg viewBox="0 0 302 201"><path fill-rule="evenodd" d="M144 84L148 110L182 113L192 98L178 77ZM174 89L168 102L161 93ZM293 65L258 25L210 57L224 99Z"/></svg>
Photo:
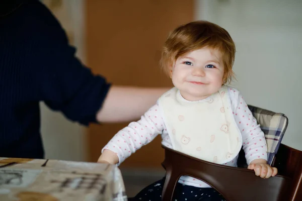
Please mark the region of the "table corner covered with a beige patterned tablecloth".
<svg viewBox="0 0 302 201"><path fill-rule="evenodd" d="M120 170L105 163L1 158L0 200L127 200Z"/></svg>

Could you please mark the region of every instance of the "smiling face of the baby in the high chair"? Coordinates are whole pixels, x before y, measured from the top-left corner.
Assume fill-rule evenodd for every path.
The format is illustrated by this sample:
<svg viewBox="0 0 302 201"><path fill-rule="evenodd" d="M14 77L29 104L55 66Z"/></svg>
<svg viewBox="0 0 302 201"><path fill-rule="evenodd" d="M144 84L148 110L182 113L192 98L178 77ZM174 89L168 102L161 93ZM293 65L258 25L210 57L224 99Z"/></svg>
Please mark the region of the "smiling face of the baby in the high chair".
<svg viewBox="0 0 302 201"><path fill-rule="evenodd" d="M202 48L177 58L172 82L187 100L201 100L218 91L224 67L216 49Z"/></svg>

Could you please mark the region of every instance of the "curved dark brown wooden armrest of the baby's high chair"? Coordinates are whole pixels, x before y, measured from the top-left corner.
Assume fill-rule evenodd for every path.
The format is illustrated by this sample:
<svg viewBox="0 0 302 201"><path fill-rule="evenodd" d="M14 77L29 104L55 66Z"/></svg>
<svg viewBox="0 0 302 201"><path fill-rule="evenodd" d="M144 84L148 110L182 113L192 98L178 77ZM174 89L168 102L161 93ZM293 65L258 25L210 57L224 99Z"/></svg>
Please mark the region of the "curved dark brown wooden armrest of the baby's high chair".
<svg viewBox="0 0 302 201"><path fill-rule="evenodd" d="M167 171L163 187L163 200L172 200L176 182L181 175L203 180L229 201L277 201L288 200L292 179L276 175L262 179L253 170L235 168L203 161L173 149L165 149L162 163ZM255 193L251 193L255 192Z"/></svg>

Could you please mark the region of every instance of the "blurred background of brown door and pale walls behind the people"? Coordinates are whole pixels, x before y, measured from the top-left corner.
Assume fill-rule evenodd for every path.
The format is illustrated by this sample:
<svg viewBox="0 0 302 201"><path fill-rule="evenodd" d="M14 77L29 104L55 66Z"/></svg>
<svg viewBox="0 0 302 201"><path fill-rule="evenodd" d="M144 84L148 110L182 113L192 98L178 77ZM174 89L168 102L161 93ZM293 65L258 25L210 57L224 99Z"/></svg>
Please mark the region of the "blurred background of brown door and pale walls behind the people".
<svg viewBox="0 0 302 201"><path fill-rule="evenodd" d="M77 56L94 73L119 85L172 86L158 64L176 26L208 20L236 43L232 85L250 105L287 115L282 143L302 150L302 1L300 0L41 0L65 29ZM95 162L125 124L91 125L66 120L43 103L46 158ZM128 158L120 169L128 196L162 178L161 137Z"/></svg>

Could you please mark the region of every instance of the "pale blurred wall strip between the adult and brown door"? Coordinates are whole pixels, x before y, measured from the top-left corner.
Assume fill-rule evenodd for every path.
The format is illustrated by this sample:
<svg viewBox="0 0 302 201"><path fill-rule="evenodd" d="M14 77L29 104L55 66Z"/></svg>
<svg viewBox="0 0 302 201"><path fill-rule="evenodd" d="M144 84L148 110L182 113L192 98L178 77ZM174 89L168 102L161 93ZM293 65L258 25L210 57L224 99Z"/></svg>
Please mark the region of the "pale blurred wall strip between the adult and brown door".
<svg viewBox="0 0 302 201"><path fill-rule="evenodd" d="M77 47L77 56L85 62L84 1L43 0L65 29L70 43ZM41 106L41 133L45 158L72 161L87 160L86 130L68 121L61 113Z"/></svg>

